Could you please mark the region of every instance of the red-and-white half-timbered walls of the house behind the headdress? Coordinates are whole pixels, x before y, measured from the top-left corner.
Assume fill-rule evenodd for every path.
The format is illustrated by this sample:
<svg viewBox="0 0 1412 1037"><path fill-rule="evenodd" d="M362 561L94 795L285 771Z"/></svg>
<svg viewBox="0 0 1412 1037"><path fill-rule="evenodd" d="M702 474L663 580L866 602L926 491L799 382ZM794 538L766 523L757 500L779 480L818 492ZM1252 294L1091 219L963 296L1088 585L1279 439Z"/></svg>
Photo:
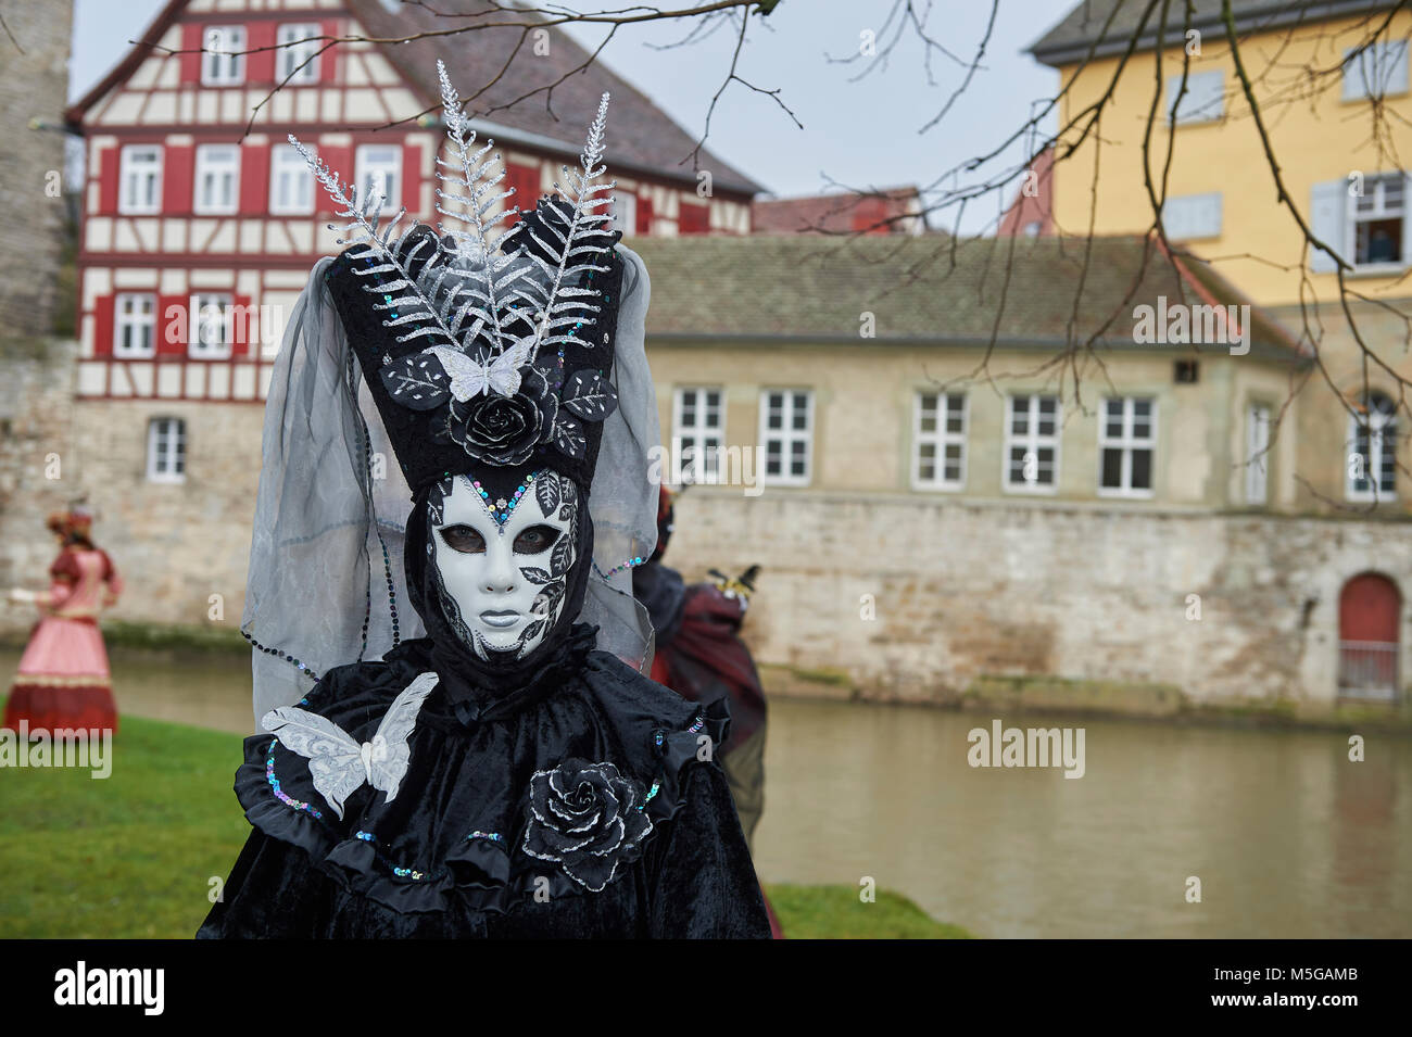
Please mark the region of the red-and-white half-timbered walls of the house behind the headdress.
<svg viewBox="0 0 1412 1037"><path fill-rule="evenodd" d="M366 34L353 7L174 0L69 110L88 138L79 401L263 401L309 268L340 251L328 224L342 220L288 134L345 181L388 189L390 209L435 222L435 99L371 44L305 63L312 37ZM587 121L565 120L552 141L500 119L489 135L524 205L551 189ZM614 174L627 234L750 231L747 193L703 199L679 169L635 172Z"/></svg>

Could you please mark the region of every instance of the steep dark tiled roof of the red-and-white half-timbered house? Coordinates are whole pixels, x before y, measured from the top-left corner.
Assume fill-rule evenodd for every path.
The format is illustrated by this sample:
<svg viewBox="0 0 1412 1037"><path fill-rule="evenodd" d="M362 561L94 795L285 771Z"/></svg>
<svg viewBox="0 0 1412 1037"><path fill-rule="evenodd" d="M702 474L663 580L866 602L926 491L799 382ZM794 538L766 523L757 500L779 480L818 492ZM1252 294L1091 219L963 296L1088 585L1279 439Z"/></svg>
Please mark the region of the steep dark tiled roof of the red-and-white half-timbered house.
<svg viewBox="0 0 1412 1037"><path fill-rule="evenodd" d="M380 0L347 0L347 7L371 38L445 32L456 24L474 24L457 23L445 14L469 16L490 10L483 0L438 0L425 7L408 4L395 14ZM491 21L507 18L522 20L521 16L503 13ZM582 72L568 75L554 87L552 109L545 104L545 93L535 93L508 109L500 107L539 87L548 87L587 61L589 54L565 32L552 27L546 32L549 48L545 55L535 54L534 40L521 40L521 31L514 27L422 37L388 45L383 48L383 54L429 106L441 104L441 86L436 82L436 59L441 58L446 62L452 82L462 90L466 111L473 121L483 116L490 123L556 141L565 148L566 157L576 155L583 148L583 135L597 113L599 97L604 92L610 93L613 99L609 106L606 157L610 174L614 169L648 172L695 183L696 174L689 155L696 138L637 87L610 71L602 58ZM491 79L496 82L483 93L470 96ZM497 140L504 140L504 135ZM682 164L682 159L688 161ZM705 148L698 164L710 171L714 189L746 195L764 190L755 181Z"/></svg>

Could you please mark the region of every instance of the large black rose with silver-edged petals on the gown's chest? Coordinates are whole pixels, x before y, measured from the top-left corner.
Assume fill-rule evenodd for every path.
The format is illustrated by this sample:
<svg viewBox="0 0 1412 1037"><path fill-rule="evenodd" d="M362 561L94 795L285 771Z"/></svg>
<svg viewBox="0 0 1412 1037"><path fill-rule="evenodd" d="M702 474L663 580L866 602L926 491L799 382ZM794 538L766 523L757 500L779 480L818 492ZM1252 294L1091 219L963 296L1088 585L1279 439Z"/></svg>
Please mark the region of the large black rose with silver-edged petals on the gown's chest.
<svg viewBox="0 0 1412 1037"><path fill-rule="evenodd" d="M530 779L522 848L599 893L652 831L642 786L611 763L570 759Z"/></svg>

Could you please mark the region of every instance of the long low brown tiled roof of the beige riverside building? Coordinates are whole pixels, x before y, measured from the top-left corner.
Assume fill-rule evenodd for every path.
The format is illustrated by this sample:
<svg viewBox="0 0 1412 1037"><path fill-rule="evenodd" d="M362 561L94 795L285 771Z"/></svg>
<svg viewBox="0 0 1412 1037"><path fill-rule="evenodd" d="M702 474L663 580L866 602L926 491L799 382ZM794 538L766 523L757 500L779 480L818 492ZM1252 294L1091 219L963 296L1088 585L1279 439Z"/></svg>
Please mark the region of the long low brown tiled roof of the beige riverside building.
<svg viewBox="0 0 1412 1037"><path fill-rule="evenodd" d="M1066 340L1082 284L1079 341L1107 323L1100 341L1131 346L1134 308L1155 306L1159 295L1169 305L1250 302L1190 258L1179 281L1155 243L1144 267L1138 237L1094 238L1087 272L1084 241L1063 237L959 238L955 261L952 238L935 234L635 237L624 244L652 279L650 337L866 343L858 322L867 310L875 315L877 340L983 346L1004 293L1000 341L1051 347ZM1293 340L1258 308L1251 325L1252 351L1298 356Z"/></svg>

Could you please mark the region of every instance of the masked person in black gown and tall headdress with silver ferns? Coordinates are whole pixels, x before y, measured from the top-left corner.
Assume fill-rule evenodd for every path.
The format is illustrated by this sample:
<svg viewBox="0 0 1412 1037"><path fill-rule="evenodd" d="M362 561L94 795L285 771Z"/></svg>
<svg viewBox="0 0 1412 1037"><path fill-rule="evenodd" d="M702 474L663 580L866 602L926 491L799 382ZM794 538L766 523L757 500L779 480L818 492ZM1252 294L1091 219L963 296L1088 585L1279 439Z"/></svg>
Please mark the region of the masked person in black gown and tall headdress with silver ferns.
<svg viewBox="0 0 1412 1037"><path fill-rule="evenodd" d="M469 220L393 238L316 165L363 234L275 365L243 622L264 732L236 776L256 831L198 935L768 937L726 711L637 669L650 288L594 209L607 97L511 248L441 72L438 207Z"/></svg>

